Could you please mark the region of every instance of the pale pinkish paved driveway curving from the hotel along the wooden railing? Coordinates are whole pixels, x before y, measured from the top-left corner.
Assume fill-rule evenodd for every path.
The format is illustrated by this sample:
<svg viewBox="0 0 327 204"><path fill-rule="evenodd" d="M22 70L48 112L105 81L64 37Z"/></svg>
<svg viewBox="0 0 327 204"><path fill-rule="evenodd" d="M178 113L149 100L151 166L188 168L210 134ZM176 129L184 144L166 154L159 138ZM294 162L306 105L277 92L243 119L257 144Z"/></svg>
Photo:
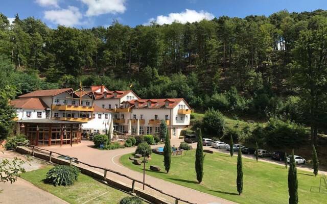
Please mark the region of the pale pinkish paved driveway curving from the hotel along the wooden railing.
<svg viewBox="0 0 327 204"><path fill-rule="evenodd" d="M172 139L171 143L172 145L179 146L179 143L181 140L179 139ZM124 167L120 165L119 158L122 155L131 153L135 151L135 147L132 148L124 148L124 149L114 149L114 150L99 150L92 148L93 145L92 141L82 141L80 144L71 146L62 146L62 147L44 147L46 149L59 152L64 155L69 155L72 157L77 157L80 161L100 166L100 167L106 167L115 171L119 171L123 174L129 175L137 180L142 181L143 180L143 174L130 170L127 167ZM158 146L164 146L163 144ZM125 177L108 173L107 177L113 179L113 180L119 180L121 182L124 182L128 185L131 185L131 181L126 179ZM161 179L157 179L155 177L146 175L146 183L150 184L151 186L158 188L168 194L174 195L176 197L180 197L185 200L189 200L198 204L205 204L210 202L217 202L221 204L230 204L235 203L231 202L222 198L215 197L213 195L209 195L206 193L202 193L190 188L186 188L177 184L173 184ZM136 187L142 188L141 185L137 184ZM150 188L147 188L145 190L151 191L153 194L160 195L156 191L153 191ZM167 197L165 197L167 198ZM172 203L175 203L174 200L170 199ZM181 203L181 202L180 202Z"/></svg>

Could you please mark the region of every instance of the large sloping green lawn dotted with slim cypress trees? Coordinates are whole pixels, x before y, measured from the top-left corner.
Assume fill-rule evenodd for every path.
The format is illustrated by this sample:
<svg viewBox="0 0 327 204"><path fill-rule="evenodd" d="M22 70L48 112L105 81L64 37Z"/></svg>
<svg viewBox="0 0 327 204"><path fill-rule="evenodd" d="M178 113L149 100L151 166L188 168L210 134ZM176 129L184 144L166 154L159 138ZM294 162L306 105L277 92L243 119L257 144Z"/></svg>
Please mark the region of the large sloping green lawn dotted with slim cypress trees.
<svg viewBox="0 0 327 204"><path fill-rule="evenodd" d="M146 173L160 179L193 188L221 198L239 203L288 203L288 171L283 167L267 162L256 163L255 160L243 158L244 185L243 194L238 195L236 188L237 155L215 152L206 154L204 160L203 182L197 184L195 173L195 150L186 156L172 156L171 169L168 174L149 170L150 165L158 165L164 171L163 156L152 154L152 160L146 165ZM128 159L131 154L121 157L120 162L135 171L142 172L142 166L133 165ZM299 203L325 203L327 193L310 192L311 186L319 186L320 176L310 172L298 171Z"/></svg>

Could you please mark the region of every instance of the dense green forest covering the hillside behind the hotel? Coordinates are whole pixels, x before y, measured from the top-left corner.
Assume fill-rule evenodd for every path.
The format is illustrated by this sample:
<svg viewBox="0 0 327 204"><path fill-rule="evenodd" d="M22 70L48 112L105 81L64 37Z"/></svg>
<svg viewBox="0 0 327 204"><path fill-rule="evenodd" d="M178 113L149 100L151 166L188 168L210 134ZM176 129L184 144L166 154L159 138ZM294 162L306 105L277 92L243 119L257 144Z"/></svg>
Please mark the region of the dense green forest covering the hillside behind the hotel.
<svg viewBox="0 0 327 204"><path fill-rule="evenodd" d="M183 97L197 112L306 125L316 143L326 131L326 80L324 10L92 29L52 29L18 14L11 23L0 13L2 125L8 99L81 81L142 98Z"/></svg>

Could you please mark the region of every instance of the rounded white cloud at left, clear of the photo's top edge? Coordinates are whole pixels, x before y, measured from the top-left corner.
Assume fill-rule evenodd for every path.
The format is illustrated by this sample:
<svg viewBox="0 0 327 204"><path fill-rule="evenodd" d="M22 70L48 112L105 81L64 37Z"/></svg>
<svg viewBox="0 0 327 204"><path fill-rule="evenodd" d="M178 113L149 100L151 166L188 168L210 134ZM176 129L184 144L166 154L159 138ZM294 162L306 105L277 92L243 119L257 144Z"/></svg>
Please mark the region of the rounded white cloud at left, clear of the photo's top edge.
<svg viewBox="0 0 327 204"><path fill-rule="evenodd" d="M83 15L78 8L68 6L68 9L49 10L44 12L44 18L53 23L72 27L82 24L80 20Z"/></svg>

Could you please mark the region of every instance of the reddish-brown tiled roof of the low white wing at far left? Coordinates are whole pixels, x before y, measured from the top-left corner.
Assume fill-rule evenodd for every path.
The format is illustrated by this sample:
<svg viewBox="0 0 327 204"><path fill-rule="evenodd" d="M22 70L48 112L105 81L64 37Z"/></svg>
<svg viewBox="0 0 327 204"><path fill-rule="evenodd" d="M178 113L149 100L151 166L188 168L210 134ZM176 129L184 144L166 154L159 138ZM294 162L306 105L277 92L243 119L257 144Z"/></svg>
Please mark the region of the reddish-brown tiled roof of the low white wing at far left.
<svg viewBox="0 0 327 204"><path fill-rule="evenodd" d="M49 108L40 98L19 98L11 100L10 105L14 108L32 109L32 110L44 110Z"/></svg>

